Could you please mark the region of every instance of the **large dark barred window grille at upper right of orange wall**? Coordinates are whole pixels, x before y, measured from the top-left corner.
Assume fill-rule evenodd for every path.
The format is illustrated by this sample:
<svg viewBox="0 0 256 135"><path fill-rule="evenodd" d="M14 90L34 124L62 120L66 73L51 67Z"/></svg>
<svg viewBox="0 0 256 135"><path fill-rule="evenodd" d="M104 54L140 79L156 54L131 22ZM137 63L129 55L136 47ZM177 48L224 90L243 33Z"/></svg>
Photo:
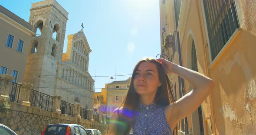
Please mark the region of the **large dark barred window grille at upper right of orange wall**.
<svg viewBox="0 0 256 135"><path fill-rule="evenodd" d="M212 60L239 28L234 0L203 0Z"/></svg>

